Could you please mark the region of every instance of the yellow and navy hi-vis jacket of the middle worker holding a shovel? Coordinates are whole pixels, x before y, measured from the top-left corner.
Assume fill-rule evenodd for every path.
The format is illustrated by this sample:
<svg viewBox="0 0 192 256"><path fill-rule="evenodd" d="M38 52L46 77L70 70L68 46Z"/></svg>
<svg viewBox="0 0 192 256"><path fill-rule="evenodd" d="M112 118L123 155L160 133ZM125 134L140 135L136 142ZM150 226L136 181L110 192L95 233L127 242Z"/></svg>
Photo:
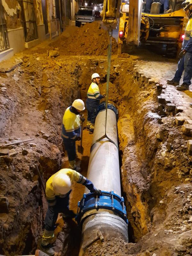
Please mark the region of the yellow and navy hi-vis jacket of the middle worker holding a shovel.
<svg viewBox="0 0 192 256"><path fill-rule="evenodd" d="M61 136L65 139L75 139L81 134L80 116L71 112L71 106L65 110Z"/></svg>

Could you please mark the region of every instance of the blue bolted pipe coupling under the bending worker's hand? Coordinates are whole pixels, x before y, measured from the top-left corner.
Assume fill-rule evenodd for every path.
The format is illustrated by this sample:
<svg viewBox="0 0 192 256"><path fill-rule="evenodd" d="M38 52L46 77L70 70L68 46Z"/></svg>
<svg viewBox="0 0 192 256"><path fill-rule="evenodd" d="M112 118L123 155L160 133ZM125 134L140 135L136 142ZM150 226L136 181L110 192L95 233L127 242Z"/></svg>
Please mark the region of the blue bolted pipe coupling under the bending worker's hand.
<svg viewBox="0 0 192 256"><path fill-rule="evenodd" d="M123 196L120 197L108 191L101 191L102 195L94 196L92 193L83 195L81 201L78 202L76 221L80 225L81 218L85 212L90 210L107 209L116 212L128 225L126 207L124 205Z"/></svg>

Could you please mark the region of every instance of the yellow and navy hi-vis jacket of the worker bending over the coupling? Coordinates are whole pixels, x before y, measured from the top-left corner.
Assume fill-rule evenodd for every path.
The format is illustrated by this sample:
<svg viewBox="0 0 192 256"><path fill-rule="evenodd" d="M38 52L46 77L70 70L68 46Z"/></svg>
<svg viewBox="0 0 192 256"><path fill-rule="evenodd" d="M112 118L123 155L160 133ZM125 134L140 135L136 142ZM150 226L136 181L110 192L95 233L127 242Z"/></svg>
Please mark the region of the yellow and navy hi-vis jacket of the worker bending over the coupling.
<svg viewBox="0 0 192 256"><path fill-rule="evenodd" d="M71 169L61 169L59 171L60 173L67 174L71 180L71 183L76 181L77 183L83 184L86 188L88 188L91 192L95 191L95 187L93 186L92 182L90 180L87 180L81 173L76 172L75 170ZM46 182L46 189L45 189L45 194L46 194L46 199L48 201L49 206L54 206L56 204L56 196L59 197L66 197L68 194L70 194L71 190L65 195L61 195L55 192L53 186L52 186L52 180L56 174L59 172L56 172L53 174L49 180Z"/></svg>

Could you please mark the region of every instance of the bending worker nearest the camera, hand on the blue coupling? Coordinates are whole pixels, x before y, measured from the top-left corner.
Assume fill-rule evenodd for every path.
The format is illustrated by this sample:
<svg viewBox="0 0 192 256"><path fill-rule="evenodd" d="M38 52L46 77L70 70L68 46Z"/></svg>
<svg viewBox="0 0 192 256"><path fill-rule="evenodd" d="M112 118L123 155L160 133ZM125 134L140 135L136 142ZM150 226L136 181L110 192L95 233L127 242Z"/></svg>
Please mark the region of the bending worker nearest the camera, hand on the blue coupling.
<svg viewBox="0 0 192 256"><path fill-rule="evenodd" d="M48 209L44 220L41 250L49 255L54 255L51 242L54 237L58 214L61 213L64 221L75 217L75 213L69 210L69 195L73 181L83 184L95 196L101 195L100 189L95 188L90 180L75 170L61 169L47 180L45 193Z"/></svg>

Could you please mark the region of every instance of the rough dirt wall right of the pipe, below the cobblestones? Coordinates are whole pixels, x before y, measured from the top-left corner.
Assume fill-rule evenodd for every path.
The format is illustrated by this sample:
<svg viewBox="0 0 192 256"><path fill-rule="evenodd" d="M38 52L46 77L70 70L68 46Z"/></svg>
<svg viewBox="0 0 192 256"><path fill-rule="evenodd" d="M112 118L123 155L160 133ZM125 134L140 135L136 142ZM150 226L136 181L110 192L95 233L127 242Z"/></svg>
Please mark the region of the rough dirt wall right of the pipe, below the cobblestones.
<svg viewBox="0 0 192 256"><path fill-rule="evenodd" d="M122 102L124 108L118 121L122 186L130 241L139 241L130 252L148 249L157 255L185 255L191 252L191 246L180 240L183 236L191 239L191 224L186 214L192 213L188 136L176 125L172 114L167 113L163 118L157 115L158 90L151 79L134 72L132 83L124 88L122 96L127 101Z"/></svg>

